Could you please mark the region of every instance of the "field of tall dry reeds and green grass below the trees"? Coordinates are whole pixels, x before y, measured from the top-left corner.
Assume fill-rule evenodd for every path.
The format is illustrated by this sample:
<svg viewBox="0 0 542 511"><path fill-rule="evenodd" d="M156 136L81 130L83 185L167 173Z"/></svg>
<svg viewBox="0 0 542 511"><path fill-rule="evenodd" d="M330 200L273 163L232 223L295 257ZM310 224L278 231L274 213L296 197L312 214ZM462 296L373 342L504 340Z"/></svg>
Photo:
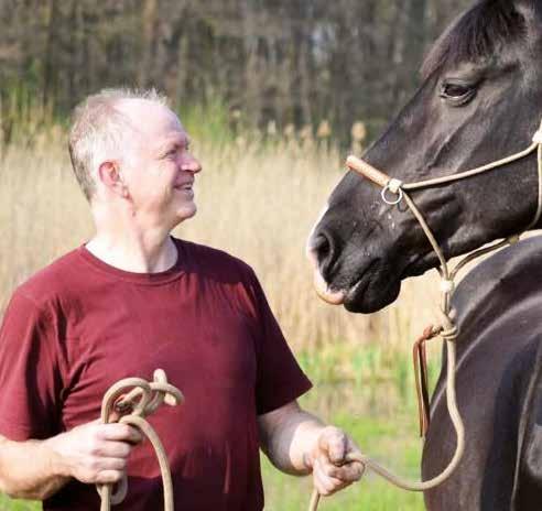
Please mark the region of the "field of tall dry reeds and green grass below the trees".
<svg viewBox="0 0 542 511"><path fill-rule="evenodd" d="M344 173L343 154L314 141L229 143L196 140L196 217L176 235L249 262L301 363L315 383L303 404L342 425L391 466L418 475L412 340L433 319L435 279L408 281L397 304L371 315L347 313L316 297L304 257L307 235ZM54 258L85 242L93 224L69 166L65 133L48 129L31 146L4 148L0 161L0 311L12 290ZM435 346L436 355L440 347ZM438 366L434 358L432 377ZM406 390L408 389L408 390ZM399 455L401 453L401 455ZM387 461L388 463L388 461ZM305 509L308 480L263 461L267 509ZM323 509L422 509L408 494L369 477ZM0 509L37 510L0 494Z"/></svg>

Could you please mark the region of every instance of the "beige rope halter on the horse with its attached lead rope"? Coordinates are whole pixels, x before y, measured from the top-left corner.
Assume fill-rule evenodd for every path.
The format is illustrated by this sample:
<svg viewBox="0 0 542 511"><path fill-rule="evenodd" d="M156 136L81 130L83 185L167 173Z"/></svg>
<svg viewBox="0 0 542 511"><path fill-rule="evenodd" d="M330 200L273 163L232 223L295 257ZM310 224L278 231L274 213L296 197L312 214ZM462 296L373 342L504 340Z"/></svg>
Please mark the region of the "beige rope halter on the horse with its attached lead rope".
<svg viewBox="0 0 542 511"><path fill-rule="evenodd" d="M426 188L430 186L437 186L442 184L452 183L454 181L464 180L474 175L478 175L491 171L494 168L497 168L499 166L506 165L508 163L514 162L517 160L520 160L531 154L535 150L538 151L538 155L536 155L538 180L539 180L538 206L531 222L523 229L522 232L511 236L495 244L491 244L490 247L476 250L473 253L466 256L455 267L455 269L451 271L448 268L448 263L444 257L444 253L438 247L438 243L435 237L433 236L431 228L429 227L423 215L420 213L420 210L418 209L416 205L411 199L406 191ZM457 436L457 444L456 444L454 456L452 457L452 460L449 461L447 467L436 477L427 481L411 481L408 479L403 479L399 476L395 476L394 474L390 472L387 468L384 468L383 466L381 466L380 464L378 464L377 461L375 461L369 456L362 453L353 453L347 455L345 463L359 461L364 467L364 471L366 468L370 468L373 472L383 477L392 485L402 488L404 490L425 491L441 485L452 475L452 472L457 468L457 465L459 464L463 453L465 450L465 428L463 425L459 411L457 409L457 399L456 399L456 391L455 391L455 368L456 368L455 341L457 339L457 327L454 323L454 317L451 311L451 298L455 290L455 279L459 270L464 268L468 262L473 261L474 259L484 256L486 253L489 253L494 250L497 250L501 247L505 247L507 244L516 243L519 240L521 233L534 227L539 222L540 218L542 217L542 122L538 131L534 133L534 137L532 139L532 144L529 145L529 148L527 148L525 150L512 154L510 156L503 157L501 160L498 160L496 162L489 163L487 165L483 165L473 168L470 171L462 172L459 174L454 174L451 176L437 177L434 180L404 184L399 180L391 178L383 172L375 168L373 166L369 165L367 162L356 156L348 156L346 162L350 170L357 172L362 177L369 178L375 184L382 187L381 196L384 203L389 205L397 205L404 198L404 202L406 203L410 210L412 211L412 214L419 221L420 226L422 227L425 237L430 241L431 247L433 248L441 263L441 268L438 268L438 273L441 275L441 306L438 309L441 316L441 326L434 329L433 333L442 337L443 341L446 344L446 356L447 356L446 405ZM395 195L397 196L395 199L390 200L388 197L389 193ZM314 489L308 510L316 511L318 508L318 502L319 502L319 493L316 489Z"/></svg>

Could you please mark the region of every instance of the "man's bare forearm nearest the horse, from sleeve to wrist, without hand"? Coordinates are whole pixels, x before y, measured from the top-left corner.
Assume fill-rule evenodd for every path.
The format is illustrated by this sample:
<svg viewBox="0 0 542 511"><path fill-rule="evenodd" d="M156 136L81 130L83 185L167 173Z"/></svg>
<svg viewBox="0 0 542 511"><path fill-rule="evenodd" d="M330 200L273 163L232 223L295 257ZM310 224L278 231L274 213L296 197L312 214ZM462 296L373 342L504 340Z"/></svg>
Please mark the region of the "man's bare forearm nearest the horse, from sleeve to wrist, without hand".
<svg viewBox="0 0 542 511"><path fill-rule="evenodd" d="M304 476L311 472L307 456L325 425L314 415L297 409L264 434L262 448L280 470Z"/></svg>

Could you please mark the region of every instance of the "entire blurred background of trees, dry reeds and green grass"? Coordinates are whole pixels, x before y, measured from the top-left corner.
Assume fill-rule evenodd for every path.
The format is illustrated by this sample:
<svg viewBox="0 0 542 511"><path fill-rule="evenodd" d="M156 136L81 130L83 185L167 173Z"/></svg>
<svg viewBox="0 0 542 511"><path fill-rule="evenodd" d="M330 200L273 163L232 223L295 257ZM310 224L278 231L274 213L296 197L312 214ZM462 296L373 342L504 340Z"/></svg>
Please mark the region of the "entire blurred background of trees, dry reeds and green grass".
<svg viewBox="0 0 542 511"><path fill-rule="evenodd" d="M432 276L371 315L316 298L306 237L342 176L416 83L465 0L0 0L0 316L12 290L91 236L67 113L105 86L172 98L204 164L199 213L176 232L253 265L315 383L303 404L419 476L410 346L433 318ZM431 373L438 368L433 348ZM268 510L305 509L310 481L263 460ZM0 496L0 510L37 509ZM323 510L421 510L368 474Z"/></svg>

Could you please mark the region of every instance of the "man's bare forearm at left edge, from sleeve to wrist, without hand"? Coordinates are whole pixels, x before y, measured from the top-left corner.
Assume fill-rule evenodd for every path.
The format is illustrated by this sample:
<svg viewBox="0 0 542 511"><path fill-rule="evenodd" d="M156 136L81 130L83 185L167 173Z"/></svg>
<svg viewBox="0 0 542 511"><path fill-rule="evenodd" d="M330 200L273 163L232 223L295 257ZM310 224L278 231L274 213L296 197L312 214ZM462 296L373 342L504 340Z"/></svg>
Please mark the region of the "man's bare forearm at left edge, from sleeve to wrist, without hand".
<svg viewBox="0 0 542 511"><path fill-rule="evenodd" d="M0 490L18 499L43 500L69 480L59 474L47 441L12 442L0 436Z"/></svg>

